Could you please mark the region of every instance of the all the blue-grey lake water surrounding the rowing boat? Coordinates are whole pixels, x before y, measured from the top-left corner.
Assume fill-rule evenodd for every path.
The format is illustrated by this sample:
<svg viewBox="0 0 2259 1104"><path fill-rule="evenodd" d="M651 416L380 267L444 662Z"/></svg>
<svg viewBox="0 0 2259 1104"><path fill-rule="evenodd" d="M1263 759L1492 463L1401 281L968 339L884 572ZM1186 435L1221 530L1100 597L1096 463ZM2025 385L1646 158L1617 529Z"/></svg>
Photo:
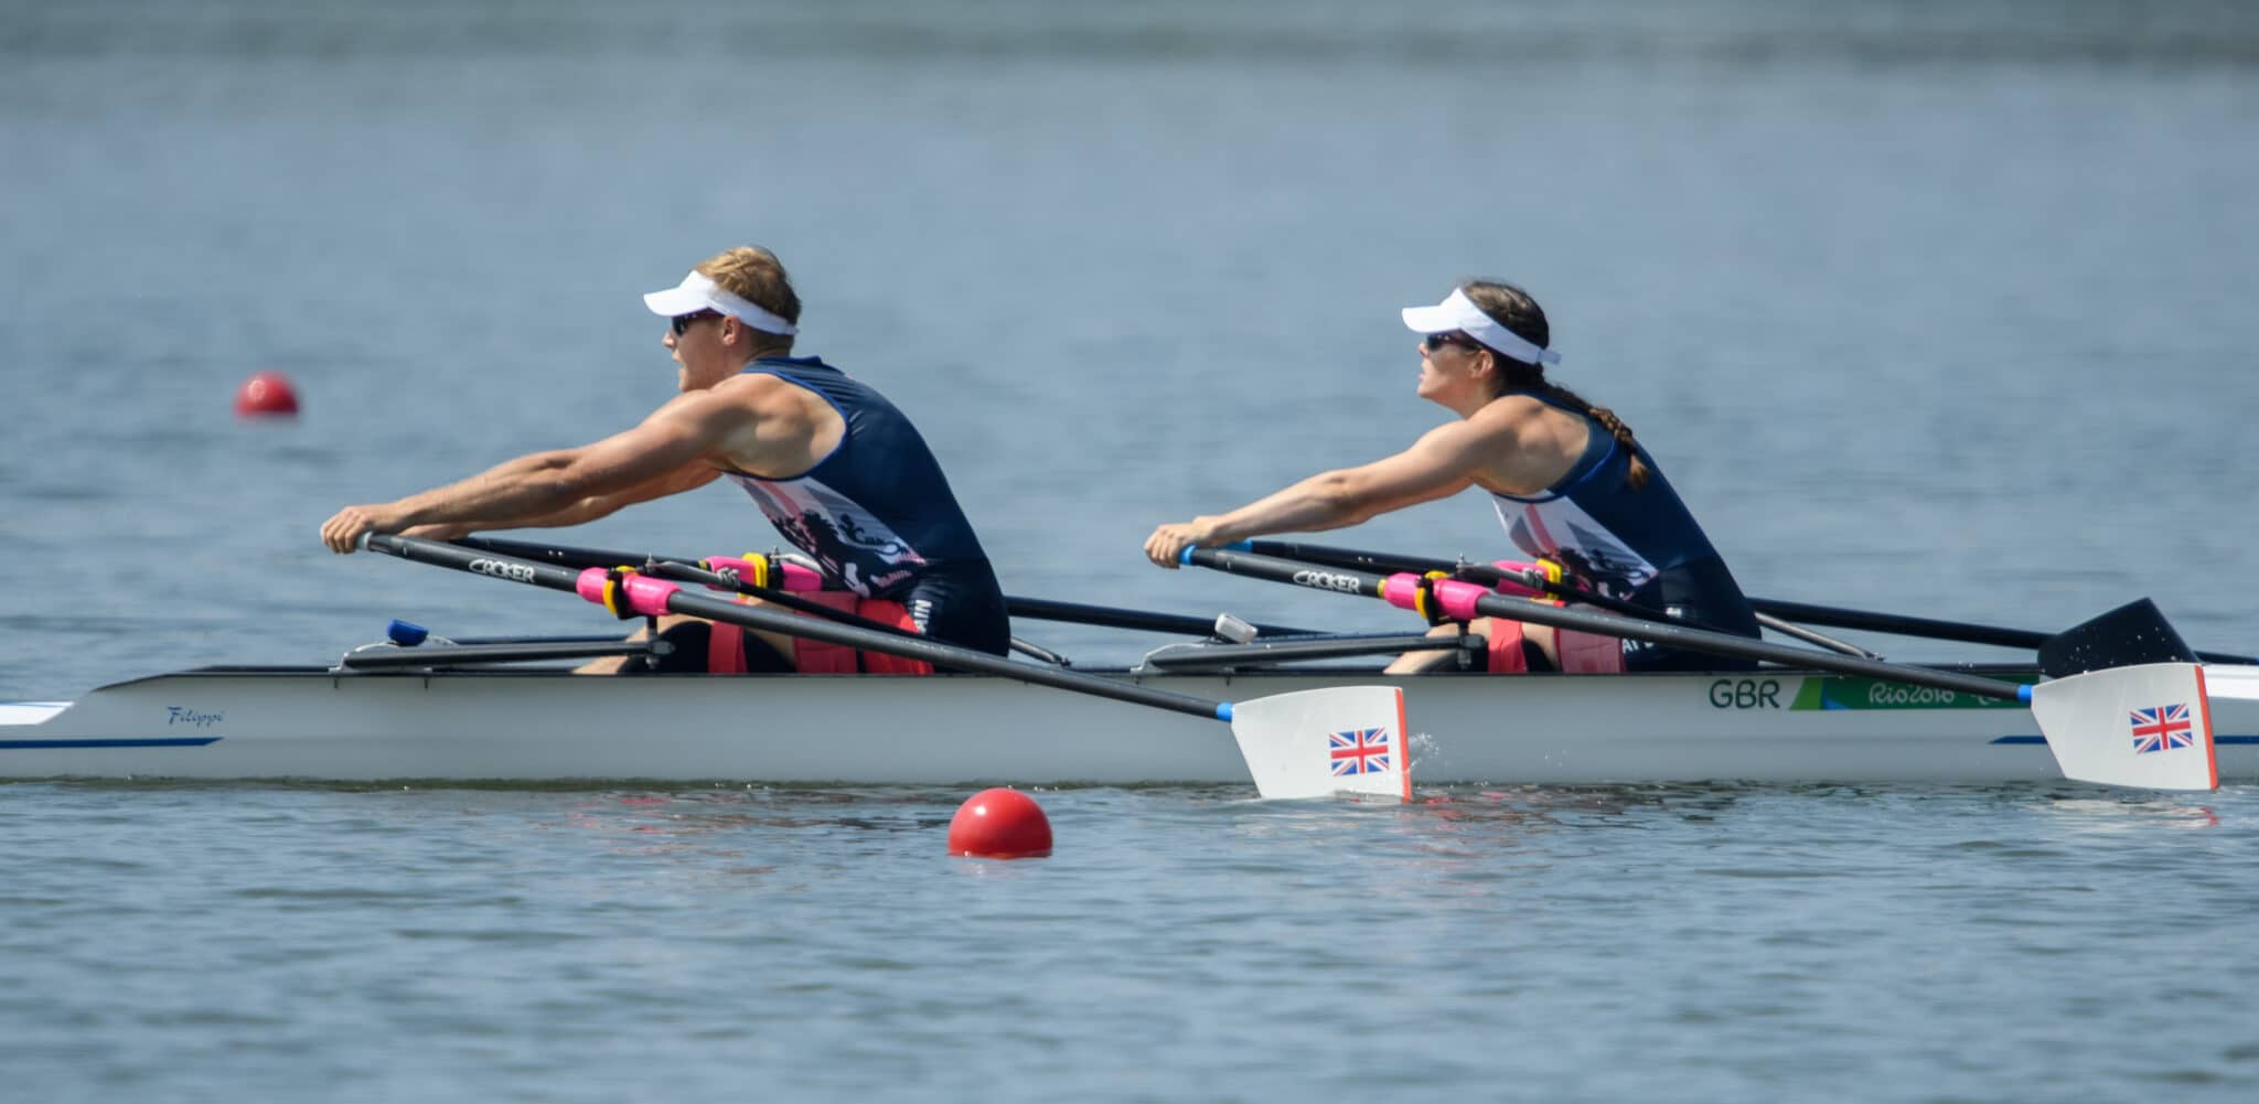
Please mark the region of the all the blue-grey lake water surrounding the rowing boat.
<svg viewBox="0 0 2259 1104"><path fill-rule="evenodd" d="M314 528L592 440L736 242L1008 589L1401 628L1136 544L1403 447L1527 284L1764 596L2259 648L2241 5L0 0L0 700L585 605ZM1837 11L1841 9L1841 11ZM228 415L287 370L294 424ZM705 490L574 533L766 549ZM1473 501L1344 542L1495 549ZM1078 659L1154 639L1023 625ZM1893 655L1968 655L1886 643ZM1041 734L1030 734L1041 738ZM2248 1099L2252 788L0 786L43 1099ZM924 1088L919 1088L924 1086Z"/></svg>

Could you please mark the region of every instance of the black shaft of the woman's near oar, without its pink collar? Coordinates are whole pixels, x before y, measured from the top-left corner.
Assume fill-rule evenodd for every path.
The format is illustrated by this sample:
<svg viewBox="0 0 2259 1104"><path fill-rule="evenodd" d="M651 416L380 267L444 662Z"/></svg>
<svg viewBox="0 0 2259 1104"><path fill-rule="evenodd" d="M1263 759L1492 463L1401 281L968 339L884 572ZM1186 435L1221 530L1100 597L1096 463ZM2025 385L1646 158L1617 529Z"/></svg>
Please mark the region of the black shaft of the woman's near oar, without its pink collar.
<svg viewBox="0 0 2259 1104"><path fill-rule="evenodd" d="M1294 560L1279 560L1272 555L1254 555L1224 549L1190 549L1186 558L1193 564L1211 567L1215 571L1229 571L1233 576L1267 578L1272 582L1288 582L1294 587L1310 587L1335 594L1362 594L1367 598L1380 598L1383 585L1387 582L1385 576L1355 571L1349 567L1317 569ZM1782 643L1771 643L1751 637L1733 637L1726 632L1672 625L1667 621L1608 616L1565 605L1545 605L1523 598L1507 598L1504 594L1484 594L1482 598L1475 598L1475 612L1484 616L1502 616L1509 621L1529 621L1534 625L1593 632L1599 637L1624 637L1647 643L1660 643L1665 648L1685 648L1690 652L1728 655L1735 659L1758 659L1769 664L1832 671L1841 675L1866 675L1891 682L1907 682L1913 686L1936 686L1940 691L1974 693L1981 698L2004 698L2011 702L2020 702L2024 698L2022 693L2024 689L2017 686L2015 682L1988 680L1981 675L1963 675L1959 671L1931 671L1931 668L1884 664L1879 659L1861 659L1855 655L1814 652L1807 648L1789 648Z"/></svg>

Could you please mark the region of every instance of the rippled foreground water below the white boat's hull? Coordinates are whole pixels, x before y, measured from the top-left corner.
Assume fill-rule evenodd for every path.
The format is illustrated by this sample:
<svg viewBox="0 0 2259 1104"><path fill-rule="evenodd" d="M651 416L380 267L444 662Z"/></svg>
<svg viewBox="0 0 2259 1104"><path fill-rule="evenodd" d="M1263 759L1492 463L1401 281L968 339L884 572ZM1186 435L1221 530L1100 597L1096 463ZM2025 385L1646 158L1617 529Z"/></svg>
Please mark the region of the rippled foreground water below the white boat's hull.
<svg viewBox="0 0 2259 1104"><path fill-rule="evenodd" d="M2241 1099L2250 792L1412 808L18 786L0 1043L117 1099ZM334 1093L334 1095L332 1095Z"/></svg>

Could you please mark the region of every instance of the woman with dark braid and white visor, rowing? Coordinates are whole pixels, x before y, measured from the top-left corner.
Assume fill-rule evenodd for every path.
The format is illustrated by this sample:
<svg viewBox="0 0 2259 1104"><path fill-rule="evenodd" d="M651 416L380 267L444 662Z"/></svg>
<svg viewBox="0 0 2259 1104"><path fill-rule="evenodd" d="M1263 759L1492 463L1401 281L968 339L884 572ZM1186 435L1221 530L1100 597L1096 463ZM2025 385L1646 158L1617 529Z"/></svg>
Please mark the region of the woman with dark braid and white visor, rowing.
<svg viewBox="0 0 2259 1104"><path fill-rule="evenodd" d="M1457 422L1385 461L1315 474L1224 515L1159 526L1145 537L1145 555L1177 567L1190 544L1353 526L1475 485L1491 492L1516 549L1565 567L1575 585L1654 610L1656 619L1758 634L1758 614L1726 560L1631 427L1545 379L1545 366L1561 354L1527 291L1468 282L1434 307L1405 307L1403 321L1423 334L1419 397L1450 409ZM1471 630L1489 637L1489 668L1500 673L1746 666L1520 621L1480 619ZM1410 652L1389 671L1448 659Z"/></svg>

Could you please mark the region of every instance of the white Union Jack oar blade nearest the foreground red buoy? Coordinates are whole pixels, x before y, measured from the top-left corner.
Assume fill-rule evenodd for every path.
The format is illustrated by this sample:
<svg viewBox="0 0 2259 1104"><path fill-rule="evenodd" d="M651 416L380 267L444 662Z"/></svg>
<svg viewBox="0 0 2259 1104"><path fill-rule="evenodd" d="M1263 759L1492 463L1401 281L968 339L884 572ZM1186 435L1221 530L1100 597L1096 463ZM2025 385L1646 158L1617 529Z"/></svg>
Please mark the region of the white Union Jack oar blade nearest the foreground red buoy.
<svg viewBox="0 0 2259 1104"><path fill-rule="evenodd" d="M1328 686L1231 707L1231 736L1263 797L1412 799L1405 691Z"/></svg>

